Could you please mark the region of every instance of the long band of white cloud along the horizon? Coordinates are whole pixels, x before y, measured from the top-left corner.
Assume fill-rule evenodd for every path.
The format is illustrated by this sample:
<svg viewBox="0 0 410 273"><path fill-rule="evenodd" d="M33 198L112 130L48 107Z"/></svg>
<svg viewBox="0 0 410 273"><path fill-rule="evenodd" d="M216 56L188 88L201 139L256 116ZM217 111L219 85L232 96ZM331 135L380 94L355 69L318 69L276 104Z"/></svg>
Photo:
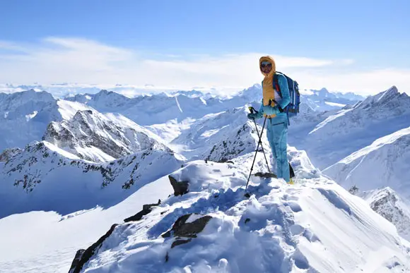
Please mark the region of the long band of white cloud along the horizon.
<svg viewBox="0 0 410 273"><path fill-rule="evenodd" d="M223 56L172 54L141 55L139 52L107 44L67 37L47 37L37 44L0 41L0 83L117 83L144 87L190 90L240 90L260 83L259 57L266 54ZM158 59L158 56L160 58ZM410 90L409 70L388 69L356 73L352 59L312 59L273 54L279 71L297 79L303 88L327 87L341 92L371 94L397 85ZM127 95L131 94L131 90Z"/></svg>

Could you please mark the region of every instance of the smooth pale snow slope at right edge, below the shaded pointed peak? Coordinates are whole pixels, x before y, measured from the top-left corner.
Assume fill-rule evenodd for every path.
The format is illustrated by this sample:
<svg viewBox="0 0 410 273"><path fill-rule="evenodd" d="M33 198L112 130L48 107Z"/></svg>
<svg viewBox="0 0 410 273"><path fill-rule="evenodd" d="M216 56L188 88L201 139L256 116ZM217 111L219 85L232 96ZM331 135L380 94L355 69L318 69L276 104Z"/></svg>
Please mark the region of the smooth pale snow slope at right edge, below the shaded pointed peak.
<svg viewBox="0 0 410 273"><path fill-rule="evenodd" d="M344 186L361 190L389 186L410 198L410 127L375 140L324 169L324 174Z"/></svg>

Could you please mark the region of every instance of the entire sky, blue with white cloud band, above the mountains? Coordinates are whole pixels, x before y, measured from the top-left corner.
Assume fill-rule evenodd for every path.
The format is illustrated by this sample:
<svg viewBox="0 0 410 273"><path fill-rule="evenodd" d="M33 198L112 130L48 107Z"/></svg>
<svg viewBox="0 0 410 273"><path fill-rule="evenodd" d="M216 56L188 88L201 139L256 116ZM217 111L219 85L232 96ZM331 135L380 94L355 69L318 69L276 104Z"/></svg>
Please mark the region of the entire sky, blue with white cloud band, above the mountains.
<svg viewBox="0 0 410 273"><path fill-rule="evenodd" d="M410 91L410 1L13 0L0 11L1 83L239 88L271 54L306 88Z"/></svg>

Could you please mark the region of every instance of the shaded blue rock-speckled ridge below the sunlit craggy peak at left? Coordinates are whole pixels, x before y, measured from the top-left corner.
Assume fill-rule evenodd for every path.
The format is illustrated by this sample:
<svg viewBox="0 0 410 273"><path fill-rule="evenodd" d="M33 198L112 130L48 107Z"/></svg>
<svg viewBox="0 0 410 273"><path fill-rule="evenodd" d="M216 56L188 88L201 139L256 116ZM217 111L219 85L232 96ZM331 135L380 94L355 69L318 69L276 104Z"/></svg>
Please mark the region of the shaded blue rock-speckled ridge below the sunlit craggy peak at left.
<svg viewBox="0 0 410 273"><path fill-rule="evenodd" d="M69 214L96 205L107 208L179 168L183 160L150 148L95 164L49 142L35 142L0 162L0 218L33 210Z"/></svg>

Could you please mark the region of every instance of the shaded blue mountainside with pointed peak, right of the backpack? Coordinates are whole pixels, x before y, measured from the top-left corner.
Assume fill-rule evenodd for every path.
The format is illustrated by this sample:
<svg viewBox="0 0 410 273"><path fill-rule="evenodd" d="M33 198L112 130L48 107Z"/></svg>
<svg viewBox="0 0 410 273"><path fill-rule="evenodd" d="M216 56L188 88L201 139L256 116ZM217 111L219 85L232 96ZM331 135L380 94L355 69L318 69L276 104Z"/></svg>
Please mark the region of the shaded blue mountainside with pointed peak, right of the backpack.
<svg viewBox="0 0 410 273"><path fill-rule="evenodd" d="M377 138L410 126L410 97L396 87L328 116L308 133L291 126L289 144L306 150L320 169L339 162ZM306 127L307 126L307 127Z"/></svg>

